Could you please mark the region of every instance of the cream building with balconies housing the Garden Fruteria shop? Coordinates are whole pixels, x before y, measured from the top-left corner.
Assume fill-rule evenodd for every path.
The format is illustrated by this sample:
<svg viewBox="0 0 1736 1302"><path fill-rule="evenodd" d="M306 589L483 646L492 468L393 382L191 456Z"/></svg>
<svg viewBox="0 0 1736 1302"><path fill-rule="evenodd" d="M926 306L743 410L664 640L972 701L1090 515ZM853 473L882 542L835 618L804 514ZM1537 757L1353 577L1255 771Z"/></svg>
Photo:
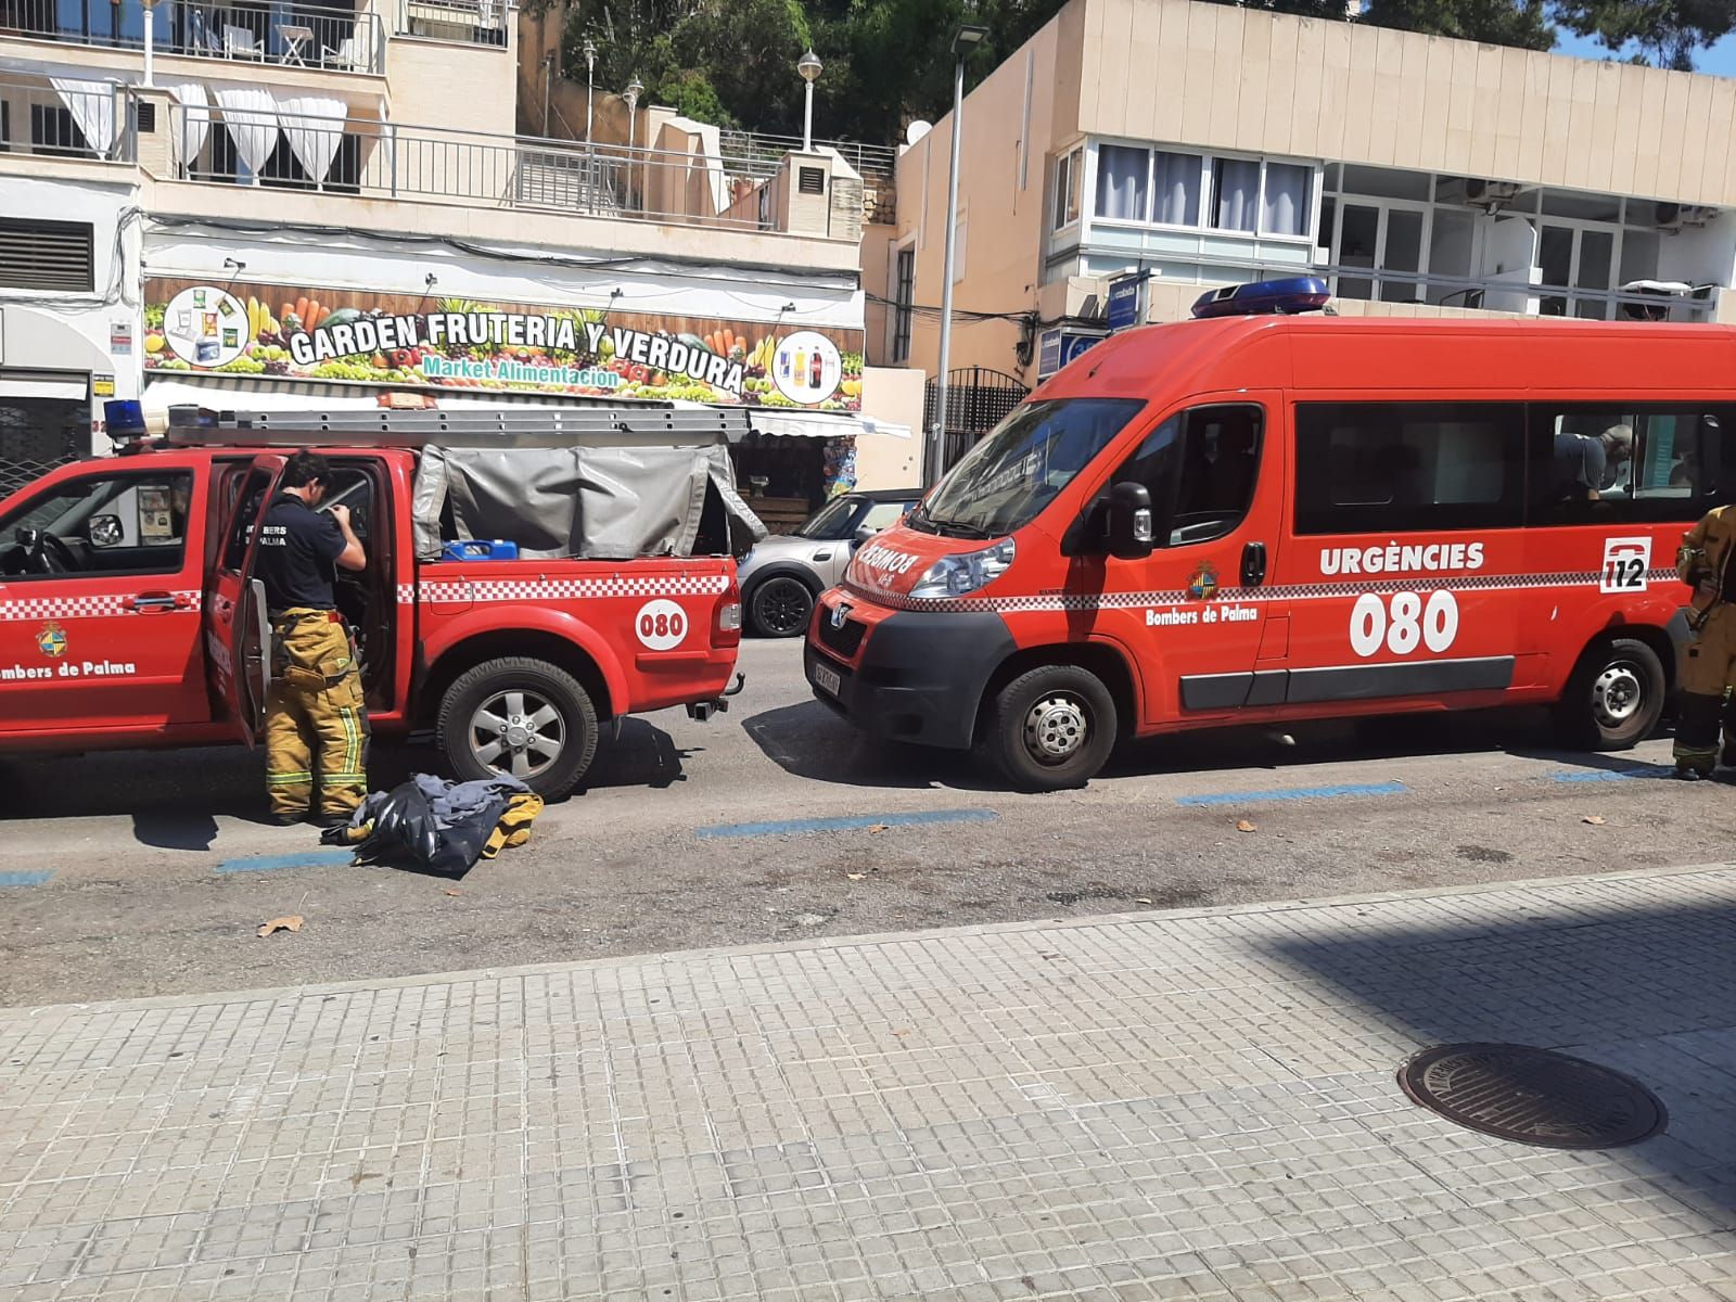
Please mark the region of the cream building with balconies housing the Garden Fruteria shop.
<svg viewBox="0 0 1736 1302"><path fill-rule="evenodd" d="M0 493L108 398L748 406L771 507L913 481L845 158L601 90L524 135L519 43L502 0L0 0Z"/></svg>

